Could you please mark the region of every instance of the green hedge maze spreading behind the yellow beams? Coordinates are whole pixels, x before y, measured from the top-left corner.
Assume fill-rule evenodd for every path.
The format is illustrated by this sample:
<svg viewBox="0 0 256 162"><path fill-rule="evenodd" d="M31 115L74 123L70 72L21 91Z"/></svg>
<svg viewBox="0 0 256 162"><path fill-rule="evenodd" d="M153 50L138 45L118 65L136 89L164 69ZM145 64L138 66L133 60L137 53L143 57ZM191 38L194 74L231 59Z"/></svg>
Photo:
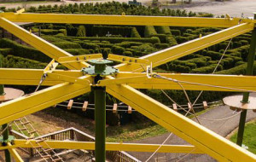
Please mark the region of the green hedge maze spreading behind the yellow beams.
<svg viewBox="0 0 256 162"><path fill-rule="evenodd" d="M9 11L15 11L10 9ZM143 6L133 6L126 3L91 3L69 4L61 6L31 7L26 12L35 13L65 13L65 14L130 14L130 15L159 15L159 16L202 16L212 17L212 14L195 14L180 9L155 9ZM28 29L30 30L30 29ZM99 25L72 25L72 24L34 24L32 32L40 35L49 43L73 55L102 53L141 57L155 51L166 49L189 40L200 38L221 31L221 28L202 27L170 27L170 26L99 26ZM245 72L247 54L251 33L243 34L230 41L218 43L187 55L176 61L155 68L156 72L190 72L212 73L224 50L230 43L223 60L220 62L217 73L242 74ZM37 49L9 40L0 39L0 53L3 58L3 67L44 68L49 57ZM60 67L64 68L64 67ZM256 72L254 72L256 74ZM157 100L167 103L158 90L145 90L145 93ZM181 101L182 93L169 91L174 99ZM189 92L190 95L196 92ZM204 100L216 100L221 95L218 92L206 93ZM111 98L111 97L110 97ZM193 99L193 96L192 96ZM112 99L108 102L113 102ZM183 101L181 101L183 102Z"/></svg>

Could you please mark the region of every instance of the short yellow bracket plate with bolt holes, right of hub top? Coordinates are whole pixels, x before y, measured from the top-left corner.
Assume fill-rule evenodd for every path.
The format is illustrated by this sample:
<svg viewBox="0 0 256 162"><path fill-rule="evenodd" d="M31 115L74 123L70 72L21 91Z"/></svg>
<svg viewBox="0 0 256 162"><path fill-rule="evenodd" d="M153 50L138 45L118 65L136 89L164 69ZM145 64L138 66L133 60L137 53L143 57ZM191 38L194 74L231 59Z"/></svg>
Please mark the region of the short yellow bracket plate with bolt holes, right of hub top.
<svg viewBox="0 0 256 162"><path fill-rule="evenodd" d="M149 65L149 62L147 60L134 58L134 57L123 56L123 55L109 54L108 55L108 60L118 61L118 62L127 63L127 64Z"/></svg>

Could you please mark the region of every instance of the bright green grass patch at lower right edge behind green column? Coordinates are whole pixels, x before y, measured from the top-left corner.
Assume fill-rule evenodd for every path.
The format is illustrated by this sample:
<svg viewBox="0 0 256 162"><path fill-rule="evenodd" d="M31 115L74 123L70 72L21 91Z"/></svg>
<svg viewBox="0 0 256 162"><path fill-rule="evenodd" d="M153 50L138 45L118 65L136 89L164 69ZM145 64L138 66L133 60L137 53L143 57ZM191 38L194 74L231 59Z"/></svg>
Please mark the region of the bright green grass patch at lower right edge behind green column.
<svg viewBox="0 0 256 162"><path fill-rule="evenodd" d="M243 136L243 144L246 145L250 152L256 153L256 120L253 122L249 122L246 124L244 136ZM236 133L231 136L230 140L232 142L236 142L237 130Z"/></svg>

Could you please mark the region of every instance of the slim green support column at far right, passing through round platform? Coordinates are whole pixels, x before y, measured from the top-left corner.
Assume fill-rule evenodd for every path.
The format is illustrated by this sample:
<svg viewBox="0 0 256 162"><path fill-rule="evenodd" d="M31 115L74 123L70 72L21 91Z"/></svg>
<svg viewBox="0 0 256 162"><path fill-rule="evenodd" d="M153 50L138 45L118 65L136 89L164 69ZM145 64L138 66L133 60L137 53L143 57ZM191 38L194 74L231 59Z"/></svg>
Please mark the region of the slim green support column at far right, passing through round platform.
<svg viewBox="0 0 256 162"><path fill-rule="evenodd" d="M256 14L254 14L254 20L256 20ZM250 44L249 54L248 54L248 61L247 61L247 72L246 75L253 75L253 63L255 59L255 50L256 50L256 28L253 30L252 34L252 40ZM249 102L249 93L245 92L243 93L242 103ZM236 139L236 144L241 146L242 144L242 138L244 133L244 127L247 119L247 110L243 110L240 115L240 121L239 121L239 128L238 128L238 134Z"/></svg>

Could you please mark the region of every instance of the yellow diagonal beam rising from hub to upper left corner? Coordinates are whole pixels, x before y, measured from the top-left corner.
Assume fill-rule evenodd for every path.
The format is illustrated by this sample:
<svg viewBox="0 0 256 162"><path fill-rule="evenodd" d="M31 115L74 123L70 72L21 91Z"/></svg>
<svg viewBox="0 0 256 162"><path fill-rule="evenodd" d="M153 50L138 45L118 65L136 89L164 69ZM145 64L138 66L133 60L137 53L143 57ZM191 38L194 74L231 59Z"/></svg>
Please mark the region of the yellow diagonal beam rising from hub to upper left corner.
<svg viewBox="0 0 256 162"><path fill-rule="evenodd" d="M3 27L3 29L5 29L6 31L14 34L16 37L22 39L24 42L29 43L34 48L40 50L45 55L48 55L50 58L55 59L55 61L58 61L60 57L73 56L67 53L65 50L60 49L55 45L45 41L43 38L39 38L38 36L30 32L27 32L22 27L17 26L13 22L1 17L0 17L0 26ZM89 64L84 62L73 62L73 63L65 64L65 66L70 69L81 69L82 67L88 67Z"/></svg>

